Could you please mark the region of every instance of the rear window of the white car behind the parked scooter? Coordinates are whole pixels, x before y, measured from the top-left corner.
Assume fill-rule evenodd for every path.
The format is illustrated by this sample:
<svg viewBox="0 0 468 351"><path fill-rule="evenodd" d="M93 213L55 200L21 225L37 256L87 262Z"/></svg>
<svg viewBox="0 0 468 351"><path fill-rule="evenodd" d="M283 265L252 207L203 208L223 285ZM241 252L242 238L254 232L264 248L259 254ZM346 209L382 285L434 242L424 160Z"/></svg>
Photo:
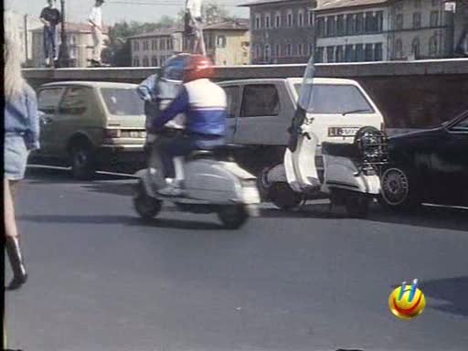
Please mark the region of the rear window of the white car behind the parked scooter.
<svg viewBox="0 0 468 351"><path fill-rule="evenodd" d="M297 94L304 93L302 84L294 85ZM302 91L301 91L302 90ZM354 85L314 84L307 106L308 112L324 114L373 113L366 97Z"/></svg>

